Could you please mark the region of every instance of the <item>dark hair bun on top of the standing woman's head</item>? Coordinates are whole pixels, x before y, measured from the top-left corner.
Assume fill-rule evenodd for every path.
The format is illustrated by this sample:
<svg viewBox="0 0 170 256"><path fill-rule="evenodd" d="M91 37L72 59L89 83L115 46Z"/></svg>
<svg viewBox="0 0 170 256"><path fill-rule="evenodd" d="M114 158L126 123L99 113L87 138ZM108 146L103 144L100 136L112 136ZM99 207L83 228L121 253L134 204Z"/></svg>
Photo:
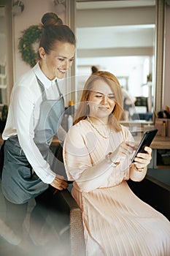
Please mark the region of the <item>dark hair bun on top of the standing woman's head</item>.
<svg viewBox="0 0 170 256"><path fill-rule="evenodd" d="M42 24L43 26L49 25L63 25L63 20L58 17L54 12L47 12L45 15L42 16Z"/></svg>

